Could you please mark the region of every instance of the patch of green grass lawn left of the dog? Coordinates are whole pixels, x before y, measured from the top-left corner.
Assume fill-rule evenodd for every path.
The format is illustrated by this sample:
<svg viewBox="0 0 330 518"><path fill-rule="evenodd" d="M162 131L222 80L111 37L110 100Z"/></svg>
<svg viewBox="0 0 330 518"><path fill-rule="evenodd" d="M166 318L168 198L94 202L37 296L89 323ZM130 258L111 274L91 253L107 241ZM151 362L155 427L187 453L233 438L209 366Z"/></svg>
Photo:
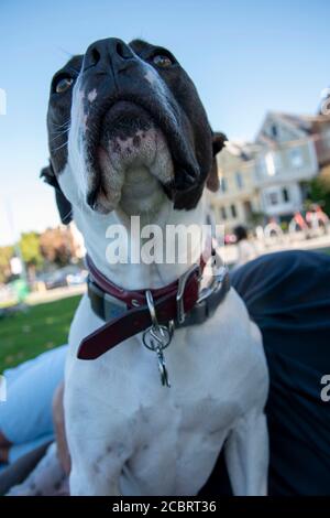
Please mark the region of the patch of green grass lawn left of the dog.
<svg viewBox="0 0 330 518"><path fill-rule="evenodd" d="M80 295L29 306L0 320L0 374L67 342Z"/></svg>

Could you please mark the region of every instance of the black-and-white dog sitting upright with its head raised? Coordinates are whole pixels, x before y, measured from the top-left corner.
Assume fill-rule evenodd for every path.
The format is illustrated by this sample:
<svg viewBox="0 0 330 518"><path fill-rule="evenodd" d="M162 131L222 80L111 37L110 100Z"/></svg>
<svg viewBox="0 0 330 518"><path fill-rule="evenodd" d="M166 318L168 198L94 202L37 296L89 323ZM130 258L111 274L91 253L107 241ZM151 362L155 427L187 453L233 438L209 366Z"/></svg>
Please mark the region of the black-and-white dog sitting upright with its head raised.
<svg viewBox="0 0 330 518"><path fill-rule="evenodd" d="M221 268L199 285L204 234L185 262L133 260L144 240L131 216L152 225L164 253L168 225L206 223L223 136L212 136L194 84L165 48L102 40L54 76L47 121L44 175L85 237L91 273L65 375L70 493L196 495L224 447L233 493L265 495L260 331ZM128 263L110 260L113 228L128 231Z"/></svg>

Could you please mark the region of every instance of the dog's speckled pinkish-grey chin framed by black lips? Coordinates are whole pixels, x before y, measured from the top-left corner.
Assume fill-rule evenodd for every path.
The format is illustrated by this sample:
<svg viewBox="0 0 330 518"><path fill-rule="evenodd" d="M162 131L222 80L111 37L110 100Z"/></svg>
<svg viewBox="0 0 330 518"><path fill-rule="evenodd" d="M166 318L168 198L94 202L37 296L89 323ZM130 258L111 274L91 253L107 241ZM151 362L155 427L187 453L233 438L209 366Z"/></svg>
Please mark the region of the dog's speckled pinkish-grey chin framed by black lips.
<svg viewBox="0 0 330 518"><path fill-rule="evenodd" d="M152 211L165 197L163 186L173 183L174 165L166 138L145 112L142 115L136 120L132 112L122 112L111 131L108 125L116 119L107 117L97 148L99 186L94 209L100 214L117 208L130 215Z"/></svg>

